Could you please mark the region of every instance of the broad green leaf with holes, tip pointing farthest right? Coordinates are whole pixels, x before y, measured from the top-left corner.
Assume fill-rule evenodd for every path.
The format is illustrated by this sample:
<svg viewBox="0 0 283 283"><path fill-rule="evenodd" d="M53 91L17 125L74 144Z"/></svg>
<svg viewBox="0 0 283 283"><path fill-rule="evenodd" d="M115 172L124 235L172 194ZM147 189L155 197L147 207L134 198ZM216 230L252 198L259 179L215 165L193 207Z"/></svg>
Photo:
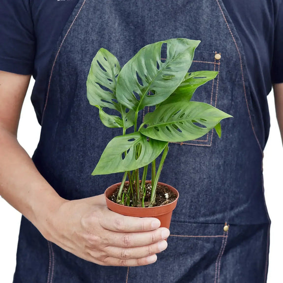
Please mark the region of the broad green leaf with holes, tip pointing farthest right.
<svg viewBox="0 0 283 283"><path fill-rule="evenodd" d="M202 137L214 127L218 130L218 123L228 117L232 116L206 103L176 102L147 113L139 131L155 140L185 142Z"/></svg>

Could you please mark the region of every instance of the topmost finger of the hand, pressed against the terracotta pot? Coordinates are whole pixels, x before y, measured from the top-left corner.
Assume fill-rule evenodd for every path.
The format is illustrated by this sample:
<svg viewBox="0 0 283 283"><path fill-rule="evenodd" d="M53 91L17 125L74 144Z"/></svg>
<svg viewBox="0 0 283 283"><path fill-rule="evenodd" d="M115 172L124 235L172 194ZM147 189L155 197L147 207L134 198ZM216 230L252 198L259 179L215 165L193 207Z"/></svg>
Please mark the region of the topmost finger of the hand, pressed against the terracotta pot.
<svg viewBox="0 0 283 283"><path fill-rule="evenodd" d="M157 218L124 216L109 211L101 219L100 225L115 232L143 232L157 229L160 226L160 221Z"/></svg>

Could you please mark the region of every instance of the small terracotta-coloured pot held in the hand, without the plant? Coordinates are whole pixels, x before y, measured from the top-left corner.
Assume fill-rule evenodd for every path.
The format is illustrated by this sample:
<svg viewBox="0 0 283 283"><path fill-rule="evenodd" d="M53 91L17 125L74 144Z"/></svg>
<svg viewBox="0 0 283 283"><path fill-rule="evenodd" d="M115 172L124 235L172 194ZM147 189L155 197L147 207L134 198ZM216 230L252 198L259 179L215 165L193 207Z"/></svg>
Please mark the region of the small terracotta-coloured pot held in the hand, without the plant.
<svg viewBox="0 0 283 283"><path fill-rule="evenodd" d="M151 181L146 181L146 182L151 183ZM117 183L110 186L109 188L106 189L104 193L107 206L110 210L126 216L155 217L160 220L161 227L166 227L169 229L172 211L176 207L177 200L179 198L179 193L175 188L171 187L170 185L158 182L158 184L160 185L167 186L170 189L170 191L172 191L177 196L177 198L169 204L165 204L162 206L155 206L155 207L130 207L130 206L117 204L108 198L110 195L113 194L117 186L120 184L121 183Z"/></svg>

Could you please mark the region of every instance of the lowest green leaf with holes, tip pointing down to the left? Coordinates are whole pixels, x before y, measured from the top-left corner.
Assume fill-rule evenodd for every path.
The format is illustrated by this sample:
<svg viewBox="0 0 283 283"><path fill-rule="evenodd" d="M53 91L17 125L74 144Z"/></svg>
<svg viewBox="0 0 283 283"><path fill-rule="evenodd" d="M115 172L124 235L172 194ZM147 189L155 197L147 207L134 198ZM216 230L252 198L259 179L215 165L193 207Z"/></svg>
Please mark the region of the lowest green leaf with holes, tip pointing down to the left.
<svg viewBox="0 0 283 283"><path fill-rule="evenodd" d="M131 171L148 165L163 151L167 142L147 138L139 132L113 138L103 151L92 175ZM137 147L141 154L136 159ZM126 152L126 154L125 154Z"/></svg>

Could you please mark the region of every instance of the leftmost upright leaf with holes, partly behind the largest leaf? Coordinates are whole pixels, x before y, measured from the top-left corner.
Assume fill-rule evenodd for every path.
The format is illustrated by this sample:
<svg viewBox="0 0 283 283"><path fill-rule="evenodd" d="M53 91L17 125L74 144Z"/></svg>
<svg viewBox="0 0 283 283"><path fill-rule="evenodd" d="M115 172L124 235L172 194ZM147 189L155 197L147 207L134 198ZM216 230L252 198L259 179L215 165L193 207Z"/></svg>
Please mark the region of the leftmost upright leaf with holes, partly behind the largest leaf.
<svg viewBox="0 0 283 283"><path fill-rule="evenodd" d="M116 99L116 84L120 70L117 58L101 48L92 60L87 77L87 98L91 105L99 108L99 116L105 126L113 128L115 125L127 129L134 125L135 113L131 110L126 112L126 107ZM118 116L111 117L108 113L102 113L104 107L121 113L122 123L115 124L119 121Z"/></svg>

